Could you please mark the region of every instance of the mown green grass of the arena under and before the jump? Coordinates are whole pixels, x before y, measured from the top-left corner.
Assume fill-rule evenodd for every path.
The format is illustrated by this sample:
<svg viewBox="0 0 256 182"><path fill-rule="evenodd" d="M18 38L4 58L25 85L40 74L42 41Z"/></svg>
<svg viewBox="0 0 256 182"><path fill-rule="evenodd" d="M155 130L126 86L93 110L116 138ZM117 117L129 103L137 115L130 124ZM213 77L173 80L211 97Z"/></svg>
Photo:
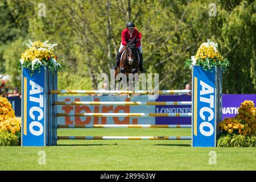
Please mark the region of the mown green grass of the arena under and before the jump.
<svg viewBox="0 0 256 182"><path fill-rule="evenodd" d="M190 136L191 129L59 129L60 136ZM190 140L58 140L0 147L0 170L256 170L256 147L191 147ZM46 164L38 164L39 151ZM217 164L209 164L215 151Z"/></svg>

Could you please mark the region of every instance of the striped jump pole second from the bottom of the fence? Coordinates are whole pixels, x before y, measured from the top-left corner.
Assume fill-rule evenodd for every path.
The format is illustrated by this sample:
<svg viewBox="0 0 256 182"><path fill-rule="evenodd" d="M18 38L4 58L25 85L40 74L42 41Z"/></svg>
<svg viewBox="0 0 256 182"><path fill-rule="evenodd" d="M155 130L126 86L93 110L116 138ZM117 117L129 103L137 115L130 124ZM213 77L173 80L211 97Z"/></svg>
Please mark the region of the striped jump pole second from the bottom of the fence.
<svg viewBox="0 0 256 182"><path fill-rule="evenodd" d="M191 125L58 125L63 128L191 128Z"/></svg>

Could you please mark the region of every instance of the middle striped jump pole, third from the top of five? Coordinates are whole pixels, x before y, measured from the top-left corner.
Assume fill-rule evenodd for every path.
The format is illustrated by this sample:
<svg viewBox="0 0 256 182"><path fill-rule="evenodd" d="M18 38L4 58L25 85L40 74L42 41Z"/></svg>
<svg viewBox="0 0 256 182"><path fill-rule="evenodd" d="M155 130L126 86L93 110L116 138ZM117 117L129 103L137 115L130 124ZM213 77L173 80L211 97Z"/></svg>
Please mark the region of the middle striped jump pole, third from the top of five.
<svg viewBox="0 0 256 182"><path fill-rule="evenodd" d="M191 117L191 113L57 113L57 117Z"/></svg>

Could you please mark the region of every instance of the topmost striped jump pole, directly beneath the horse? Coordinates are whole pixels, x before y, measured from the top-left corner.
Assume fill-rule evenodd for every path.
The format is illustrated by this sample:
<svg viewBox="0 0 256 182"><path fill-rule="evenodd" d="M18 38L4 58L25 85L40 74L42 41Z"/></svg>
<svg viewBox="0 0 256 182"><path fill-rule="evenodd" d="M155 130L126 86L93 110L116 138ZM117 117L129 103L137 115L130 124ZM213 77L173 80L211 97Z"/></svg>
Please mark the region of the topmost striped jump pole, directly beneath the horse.
<svg viewBox="0 0 256 182"><path fill-rule="evenodd" d="M191 90L51 90L53 94L187 94Z"/></svg>

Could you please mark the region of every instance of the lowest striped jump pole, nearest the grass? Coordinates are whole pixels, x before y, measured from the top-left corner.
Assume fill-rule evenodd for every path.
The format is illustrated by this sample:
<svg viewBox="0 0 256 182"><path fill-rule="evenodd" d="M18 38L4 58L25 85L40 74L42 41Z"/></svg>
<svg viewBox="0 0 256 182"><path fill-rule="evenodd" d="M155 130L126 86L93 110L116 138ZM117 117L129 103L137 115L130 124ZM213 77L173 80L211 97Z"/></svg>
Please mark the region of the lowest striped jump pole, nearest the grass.
<svg viewBox="0 0 256 182"><path fill-rule="evenodd" d="M191 140L191 137L57 137L60 139L82 140Z"/></svg>

